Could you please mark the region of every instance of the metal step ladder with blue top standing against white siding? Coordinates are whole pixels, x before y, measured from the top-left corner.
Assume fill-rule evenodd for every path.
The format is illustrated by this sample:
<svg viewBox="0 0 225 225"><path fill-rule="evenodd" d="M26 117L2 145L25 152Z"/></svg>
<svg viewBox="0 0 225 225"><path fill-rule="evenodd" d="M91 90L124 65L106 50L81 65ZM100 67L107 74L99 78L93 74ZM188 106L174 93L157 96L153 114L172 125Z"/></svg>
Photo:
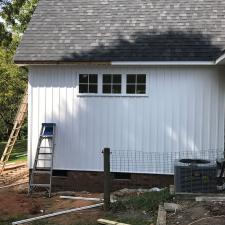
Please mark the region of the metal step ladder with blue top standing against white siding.
<svg viewBox="0 0 225 225"><path fill-rule="evenodd" d="M30 174L29 195L37 188L45 188L51 197L55 129L55 123L42 123L34 166ZM39 181L40 176L44 183Z"/></svg>

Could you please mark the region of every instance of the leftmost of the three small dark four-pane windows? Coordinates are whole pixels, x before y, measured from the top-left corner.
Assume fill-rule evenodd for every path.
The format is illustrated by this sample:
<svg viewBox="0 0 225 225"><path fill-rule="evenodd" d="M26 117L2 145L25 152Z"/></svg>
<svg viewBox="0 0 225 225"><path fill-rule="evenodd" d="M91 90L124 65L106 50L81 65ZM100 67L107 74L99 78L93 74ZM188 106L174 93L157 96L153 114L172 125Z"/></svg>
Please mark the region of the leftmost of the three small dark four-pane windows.
<svg viewBox="0 0 225 225"><path fill-rule="evenodd" d="M79 93L98 93L98 75L80 74Z"/></svg>

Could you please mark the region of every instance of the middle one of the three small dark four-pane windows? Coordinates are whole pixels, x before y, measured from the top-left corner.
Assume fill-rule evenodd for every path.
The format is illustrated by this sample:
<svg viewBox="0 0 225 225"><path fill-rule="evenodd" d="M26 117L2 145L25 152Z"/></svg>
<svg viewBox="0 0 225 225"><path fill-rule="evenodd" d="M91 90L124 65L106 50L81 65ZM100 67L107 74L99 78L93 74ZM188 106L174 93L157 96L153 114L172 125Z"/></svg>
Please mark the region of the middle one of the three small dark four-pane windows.
<svg viewBox="0 0 225 225"><path fill-rule="evenodd" d="M102 84L103 94L121 94L120 74L103 74Z"/></svg>

